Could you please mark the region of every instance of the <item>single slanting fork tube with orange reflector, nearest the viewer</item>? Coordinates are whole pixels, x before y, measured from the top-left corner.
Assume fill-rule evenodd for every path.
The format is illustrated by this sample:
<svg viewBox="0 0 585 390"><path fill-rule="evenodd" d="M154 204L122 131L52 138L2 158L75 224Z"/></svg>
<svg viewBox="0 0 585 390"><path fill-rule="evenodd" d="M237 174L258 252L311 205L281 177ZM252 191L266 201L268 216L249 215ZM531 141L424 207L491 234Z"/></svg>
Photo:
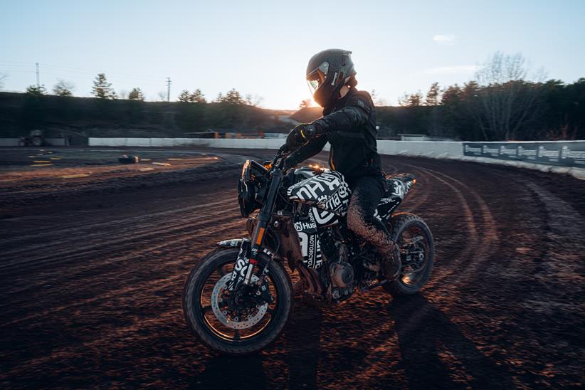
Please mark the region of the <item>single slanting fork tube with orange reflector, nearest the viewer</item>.
<svg viewBox="0 0 585 390"><path fill-rule="evenodd" d="M272 218L274 204L276 203L276 195L278 194L278 188L280 187L280 182L282 180L283 171L280 169L275 169L272 175L272 180L270 181L268 193L266 194L264 203L262 204L260 212L258 213L258 223L255 224L254 231L252 232L250 265L248 265L248 270L246 271L246 278L243 280L243 284L245 285L250 285L254 265L258 264L258 253L260 253L266 229L268 228L268 223L270 223L270 219Z"/></svg>

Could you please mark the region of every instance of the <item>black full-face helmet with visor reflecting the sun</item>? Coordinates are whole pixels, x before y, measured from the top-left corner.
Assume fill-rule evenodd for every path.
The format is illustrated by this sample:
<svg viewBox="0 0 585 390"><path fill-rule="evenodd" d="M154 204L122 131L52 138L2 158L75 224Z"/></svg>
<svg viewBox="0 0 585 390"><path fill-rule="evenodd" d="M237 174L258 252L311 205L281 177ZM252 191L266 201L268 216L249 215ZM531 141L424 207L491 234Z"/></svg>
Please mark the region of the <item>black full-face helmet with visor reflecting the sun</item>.
<svg viewBox="0 0 585 390"><path fill-rule="evenodd" d="M309 60L307 82L313 100L321 107L327 107L337 100L337 94L347 78L356 75L351 55L351 51L328 49Z"/></svg>

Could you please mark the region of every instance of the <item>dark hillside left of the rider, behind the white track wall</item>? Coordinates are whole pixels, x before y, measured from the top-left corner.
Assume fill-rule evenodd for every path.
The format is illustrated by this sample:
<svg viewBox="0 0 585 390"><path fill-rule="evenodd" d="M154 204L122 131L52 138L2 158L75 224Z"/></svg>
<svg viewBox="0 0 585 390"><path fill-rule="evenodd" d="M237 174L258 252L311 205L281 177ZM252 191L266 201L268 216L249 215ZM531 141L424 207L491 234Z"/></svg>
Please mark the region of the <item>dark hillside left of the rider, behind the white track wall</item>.
<svg viewBox="0 0 585 390"><path fill-rule="evenodd" d="M31 129L83 137L181 137L208 129L219 132L286 132L292 111L250 105L101 100L93 97L0 93L0 137Z"/></svg>

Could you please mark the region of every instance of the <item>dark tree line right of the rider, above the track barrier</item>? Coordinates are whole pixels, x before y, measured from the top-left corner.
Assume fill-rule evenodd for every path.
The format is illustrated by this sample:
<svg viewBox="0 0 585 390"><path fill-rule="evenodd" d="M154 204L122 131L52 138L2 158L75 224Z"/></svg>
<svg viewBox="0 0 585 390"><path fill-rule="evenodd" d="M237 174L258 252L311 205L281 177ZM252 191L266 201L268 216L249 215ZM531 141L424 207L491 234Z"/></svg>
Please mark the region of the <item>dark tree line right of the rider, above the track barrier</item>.
<svg viewBox="0 0 585 390"><path fill-rule="evenodd" d="M380 107L382 132L472 141L585 139L585 78L545 81L542 70L529 70L522 55L495 53L468 83L433 83L426 95L405 94L402 115Z"/></svg>

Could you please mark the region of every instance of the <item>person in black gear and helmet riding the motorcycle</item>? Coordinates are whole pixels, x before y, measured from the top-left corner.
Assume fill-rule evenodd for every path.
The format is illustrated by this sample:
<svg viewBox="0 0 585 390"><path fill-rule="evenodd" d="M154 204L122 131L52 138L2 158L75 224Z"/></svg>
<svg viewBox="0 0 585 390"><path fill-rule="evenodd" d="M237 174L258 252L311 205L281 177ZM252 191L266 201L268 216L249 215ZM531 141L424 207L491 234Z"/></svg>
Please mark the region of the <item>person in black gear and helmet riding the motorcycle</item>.
<svg viewBox="0 0 585 390"><path fill-rule="evenodd" d="M386 226L374 216L386 188L376 147L376 110L369 93L355 88L351 53L329 49L309 60L307 82L313 100L324 108L323 117L290 131L287 144L302 146L286 165L293 167L331 144L330 167L343 174L352 189L347 226L376 248L384 259L386 278L392 279L399 275L400 260Z"/></svg>

